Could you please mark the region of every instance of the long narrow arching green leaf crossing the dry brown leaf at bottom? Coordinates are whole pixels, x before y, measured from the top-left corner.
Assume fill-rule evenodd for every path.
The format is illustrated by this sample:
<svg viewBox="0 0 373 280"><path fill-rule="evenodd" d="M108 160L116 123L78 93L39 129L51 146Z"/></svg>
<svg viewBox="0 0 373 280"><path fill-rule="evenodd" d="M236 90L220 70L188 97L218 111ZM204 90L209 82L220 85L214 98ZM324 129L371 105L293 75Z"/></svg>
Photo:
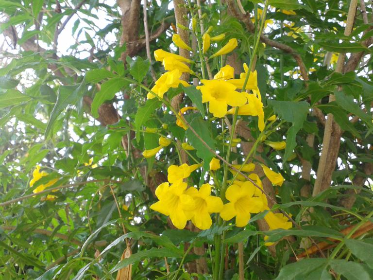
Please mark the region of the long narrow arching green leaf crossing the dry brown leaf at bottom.
<svg viewBox="0 0 373 280"><path fill-rule="evenodd" d="M167 257L167 258L181 258L183 253L177 253L167 248L151 248L150 250L140 251L136 254L133 254L128 259L124 259L120 261L117 265L115 265L111 270L110 273L114 273L118 271L120 268L125 267L127 265L133 264L135 262L142 261L148 258L160 258L160 257Z"/></svg>

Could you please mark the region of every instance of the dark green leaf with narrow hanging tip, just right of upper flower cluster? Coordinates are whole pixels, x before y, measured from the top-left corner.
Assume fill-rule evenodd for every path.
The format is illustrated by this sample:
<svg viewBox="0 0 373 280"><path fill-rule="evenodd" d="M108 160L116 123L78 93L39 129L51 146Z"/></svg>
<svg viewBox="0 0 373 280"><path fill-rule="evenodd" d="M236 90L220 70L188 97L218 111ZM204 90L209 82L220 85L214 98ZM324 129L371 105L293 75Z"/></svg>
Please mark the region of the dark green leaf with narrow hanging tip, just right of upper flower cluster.
<svg viewBox="0 0 373 280"><path fill-rule="evenodd" d="M297 145L296 135L302 128L309 110L309 104L305 101L275 101L269 100L268 104L273 107L274 112L283 120L292 123L286 137L286 148L283 162L286 162Z"/></svg>

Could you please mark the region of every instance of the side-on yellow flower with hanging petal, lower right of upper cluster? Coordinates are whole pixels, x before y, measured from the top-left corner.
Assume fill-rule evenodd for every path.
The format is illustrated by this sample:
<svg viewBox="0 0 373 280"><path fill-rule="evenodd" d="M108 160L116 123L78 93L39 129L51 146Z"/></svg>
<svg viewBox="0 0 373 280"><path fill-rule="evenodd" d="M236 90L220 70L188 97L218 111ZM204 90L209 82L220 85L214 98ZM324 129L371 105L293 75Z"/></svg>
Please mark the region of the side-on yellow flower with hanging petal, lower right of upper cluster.
<svg viewBox="0 0 373 280"><path fill-rule="evenodd" d="M258 116L258 128L260 131L264 130L264 110L263 103L259 101L254 94L246 94L248 104L242 105L238 108L238 115L242 116ZM234 114L236 108L230 109L227 114Z"/></svg>

